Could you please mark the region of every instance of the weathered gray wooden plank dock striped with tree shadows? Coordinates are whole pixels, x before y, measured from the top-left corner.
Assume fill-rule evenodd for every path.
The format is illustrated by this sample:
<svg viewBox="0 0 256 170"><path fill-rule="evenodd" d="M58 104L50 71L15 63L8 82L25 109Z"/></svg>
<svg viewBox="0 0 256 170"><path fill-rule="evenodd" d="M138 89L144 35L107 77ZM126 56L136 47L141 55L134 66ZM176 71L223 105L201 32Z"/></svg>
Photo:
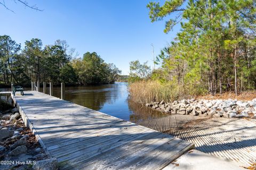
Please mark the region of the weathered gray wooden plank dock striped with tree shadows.
<svg viewBox="0 0 256 170"><path fill-rule="evenodd" d="M60 169L162 169L194 144L36 91L13 96Z"/></svg>

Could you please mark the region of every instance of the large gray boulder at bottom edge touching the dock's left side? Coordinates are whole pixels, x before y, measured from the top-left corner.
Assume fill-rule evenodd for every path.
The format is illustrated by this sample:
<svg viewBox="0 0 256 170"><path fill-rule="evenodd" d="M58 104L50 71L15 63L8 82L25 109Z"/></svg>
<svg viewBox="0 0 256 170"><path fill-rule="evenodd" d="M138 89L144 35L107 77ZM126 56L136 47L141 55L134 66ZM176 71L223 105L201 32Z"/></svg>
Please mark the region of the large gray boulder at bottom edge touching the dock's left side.
<svg viewBox="0 0 256 170"><path fill-rule="evenodd" d="M35 170L58 170L58 161L57 159L46 159L37 161L35 165L33 165L33 169Z"/></svg>

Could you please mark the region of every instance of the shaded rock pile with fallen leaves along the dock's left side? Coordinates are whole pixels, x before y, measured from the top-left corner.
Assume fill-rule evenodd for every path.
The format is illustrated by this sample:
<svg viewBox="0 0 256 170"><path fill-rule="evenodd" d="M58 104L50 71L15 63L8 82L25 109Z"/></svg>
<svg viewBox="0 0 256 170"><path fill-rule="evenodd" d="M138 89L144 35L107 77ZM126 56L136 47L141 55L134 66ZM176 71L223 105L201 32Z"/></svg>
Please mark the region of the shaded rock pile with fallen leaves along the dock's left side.
<svg viewBox="0 0 256 170"><path fill-rule="evenodd" d="M0 169L58 169L49 159L17 108L0 111ZM51 165L51 168L49 168Z"/></svg>

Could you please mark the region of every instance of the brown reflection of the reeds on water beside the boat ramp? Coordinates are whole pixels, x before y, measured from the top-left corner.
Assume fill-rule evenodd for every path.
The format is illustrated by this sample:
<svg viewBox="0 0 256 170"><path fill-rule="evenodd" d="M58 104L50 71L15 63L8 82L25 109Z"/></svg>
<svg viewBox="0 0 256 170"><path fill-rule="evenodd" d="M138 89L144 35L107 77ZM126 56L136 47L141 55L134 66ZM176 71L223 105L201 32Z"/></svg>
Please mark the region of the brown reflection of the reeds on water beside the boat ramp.
<svg viewBox="0 0 256 170"><path fill-rule="evenodd" d="M159 117L168 116L164 112L153 110L146 106L142 106L139 103L135 103L132 99L127 99L128 107L131 110L130 121L134 123L139 123L142 120L154 119Z"/></svg>

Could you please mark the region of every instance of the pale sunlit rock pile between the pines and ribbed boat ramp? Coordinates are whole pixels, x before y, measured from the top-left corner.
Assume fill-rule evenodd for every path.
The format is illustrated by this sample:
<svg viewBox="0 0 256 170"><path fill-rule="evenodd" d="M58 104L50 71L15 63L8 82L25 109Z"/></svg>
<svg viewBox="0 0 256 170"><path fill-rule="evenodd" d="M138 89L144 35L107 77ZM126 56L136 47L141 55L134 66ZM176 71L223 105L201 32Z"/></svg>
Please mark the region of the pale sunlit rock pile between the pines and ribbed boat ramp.
<svg viewBox="0 0 256 170"><path fill-rule="evenodd" d="M256 118L256 99L238 100L204 100L188 99L172 103L151 102L147 107L161 110L169 114L212 116L212 117L251 117Z"/></svg>

